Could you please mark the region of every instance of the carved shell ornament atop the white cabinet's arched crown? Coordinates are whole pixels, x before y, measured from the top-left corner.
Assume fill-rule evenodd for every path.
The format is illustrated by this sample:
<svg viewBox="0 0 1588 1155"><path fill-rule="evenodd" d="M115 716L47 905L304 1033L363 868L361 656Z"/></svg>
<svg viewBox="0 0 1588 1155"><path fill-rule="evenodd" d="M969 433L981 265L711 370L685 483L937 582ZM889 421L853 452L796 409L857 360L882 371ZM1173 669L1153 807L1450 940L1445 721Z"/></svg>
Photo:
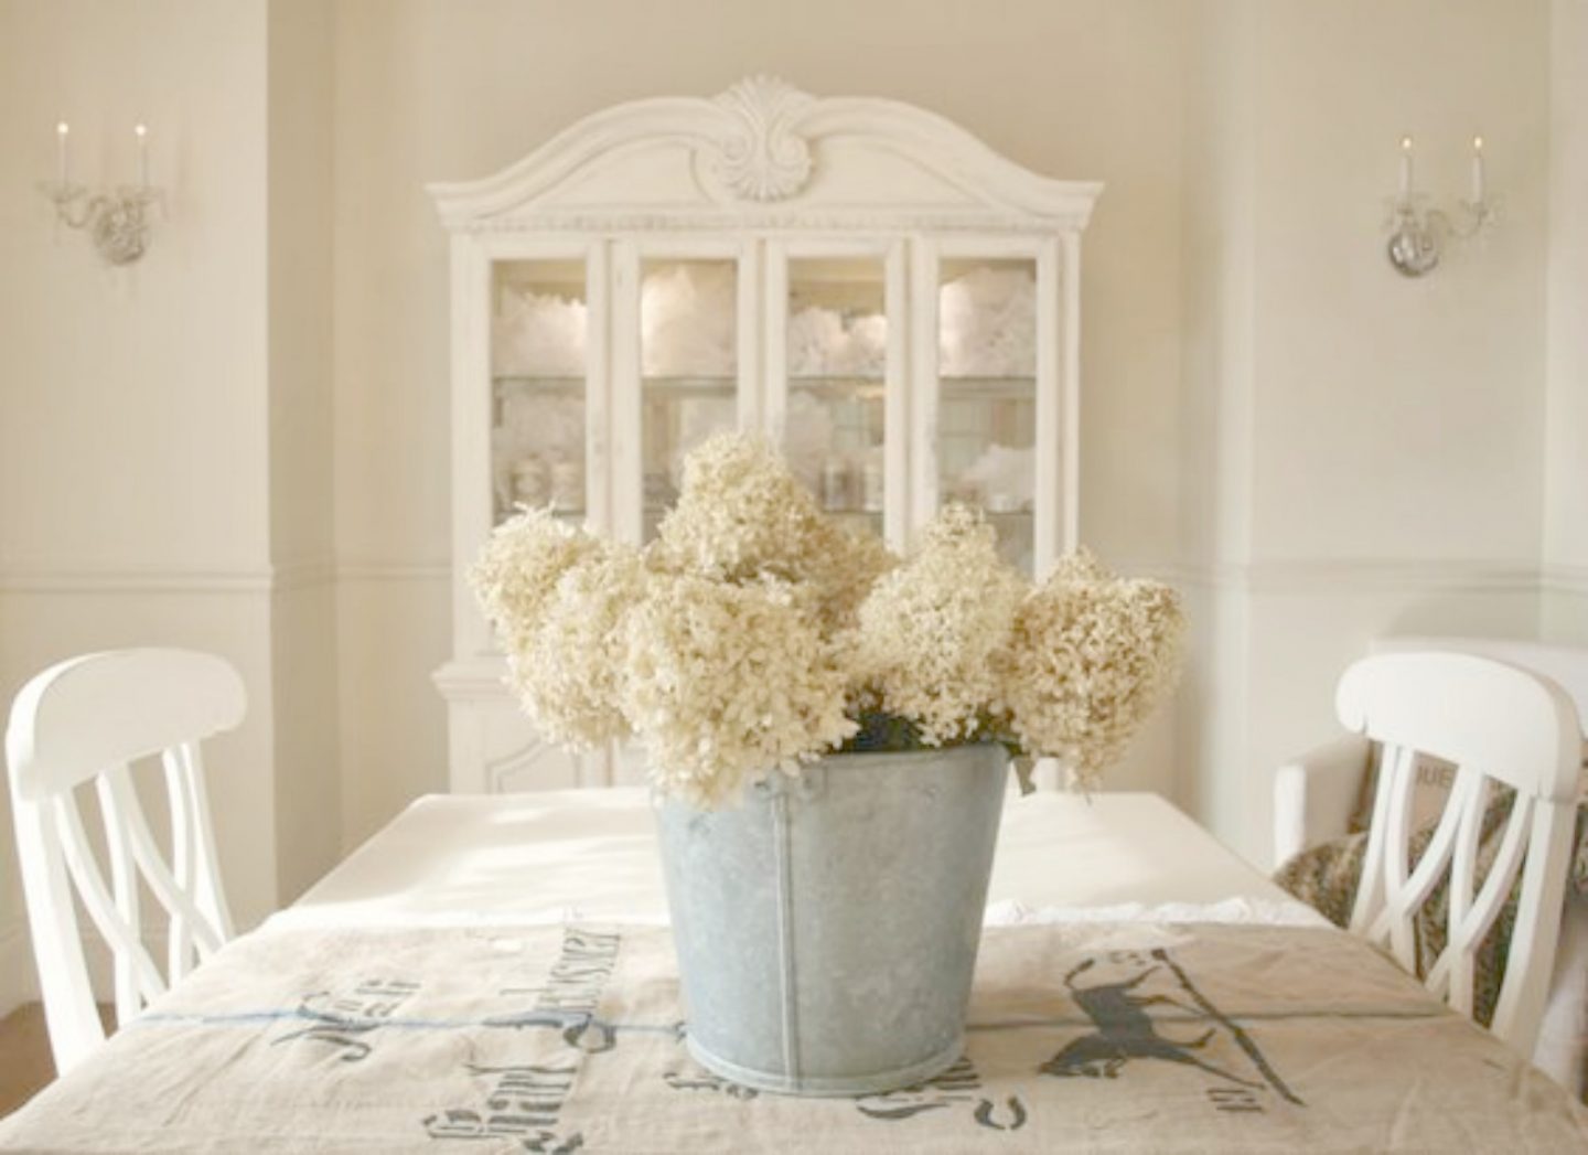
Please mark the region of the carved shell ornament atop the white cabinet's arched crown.
<svg viewBox="0 0 1588 1155"><path fill-rule="evenodd" d="M783 200L810 180L810 145L792 124L811 97L775 76L750 76L716 99L729 113L716 176L740 200Z"/></svg>

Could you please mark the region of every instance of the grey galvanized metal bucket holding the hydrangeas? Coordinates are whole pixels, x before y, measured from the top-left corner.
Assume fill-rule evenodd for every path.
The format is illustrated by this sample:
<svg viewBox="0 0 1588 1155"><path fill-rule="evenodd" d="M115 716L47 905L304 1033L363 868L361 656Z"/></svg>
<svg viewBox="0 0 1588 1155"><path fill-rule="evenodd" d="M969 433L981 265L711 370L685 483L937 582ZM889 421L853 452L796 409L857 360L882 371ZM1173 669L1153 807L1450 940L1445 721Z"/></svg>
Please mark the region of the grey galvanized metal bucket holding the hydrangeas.
<svg viewBox="0 0 1588 1155"><path fill-rule="evenodd" d="M867 1095L964 1042L1008 756L834 755L734 809L657 810L689 1053L745 1087Z"/></svg>

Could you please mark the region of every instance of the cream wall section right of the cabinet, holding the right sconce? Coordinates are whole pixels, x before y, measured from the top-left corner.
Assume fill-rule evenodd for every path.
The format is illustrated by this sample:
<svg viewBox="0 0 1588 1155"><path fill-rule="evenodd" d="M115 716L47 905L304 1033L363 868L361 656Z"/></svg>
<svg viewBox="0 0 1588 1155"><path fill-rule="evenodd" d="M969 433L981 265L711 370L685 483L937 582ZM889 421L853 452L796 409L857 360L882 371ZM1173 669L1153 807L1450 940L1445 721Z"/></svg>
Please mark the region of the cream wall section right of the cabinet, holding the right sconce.
<svg viewBox="0 0 1588 1155"><path fill-rule="evenodd" d="M1539 631L1550 6L1213 0L1189 35L1181 788L1266 864L1270 767L1375 635ZM1385 259L1402 133L1445 211L1483 133L1502 202L1421 280Z"/></svg>

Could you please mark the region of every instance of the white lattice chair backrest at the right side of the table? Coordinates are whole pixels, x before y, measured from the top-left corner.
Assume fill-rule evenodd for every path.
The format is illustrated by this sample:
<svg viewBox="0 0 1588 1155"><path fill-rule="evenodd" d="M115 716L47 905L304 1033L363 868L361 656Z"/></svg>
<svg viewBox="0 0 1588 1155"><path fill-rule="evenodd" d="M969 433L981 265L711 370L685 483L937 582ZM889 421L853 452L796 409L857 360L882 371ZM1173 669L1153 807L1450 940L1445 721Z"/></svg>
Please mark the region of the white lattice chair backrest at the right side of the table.
<svg viewBox="0 0 1588 1155"><path fill-rule="evenodd" d="M1571 696L1520 667L1467 653L1388 653L1345 670L1340 721L1383 745L1351 929L1416 969L1415 918L1448 875L1447 945L1424 975L1472 1015L1475 956L1510 898L1521 896L1490 1028L1531 1055L1559 936L1582 737ZM1455 763L1456 782L1428 848L1410 866L1415 755ZM1517 791L1482 887L1478 842L1491 785Z"/></svg>

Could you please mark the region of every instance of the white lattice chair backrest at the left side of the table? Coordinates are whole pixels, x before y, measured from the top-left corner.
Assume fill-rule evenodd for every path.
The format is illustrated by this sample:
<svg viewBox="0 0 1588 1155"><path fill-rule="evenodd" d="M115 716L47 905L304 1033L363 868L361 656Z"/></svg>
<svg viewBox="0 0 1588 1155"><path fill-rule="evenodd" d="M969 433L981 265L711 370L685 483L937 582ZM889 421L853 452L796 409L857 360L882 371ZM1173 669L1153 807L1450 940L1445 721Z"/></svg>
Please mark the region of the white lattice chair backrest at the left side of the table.
<svg viewBox="0 0 1588 1155"><path fill-rule="evenodd" d="M191 650L71 658L17 694L5 739L11 809L57 1072L105 1041L73 888L114 958L118 1025L232 937L198 744L235 728L245 709L237 670ZM165 771L168 859L130 774L133 761L149 756ZM76 788L87 782L105 825L108 887L78 809ZM143 942L140 875L168 918L164 972Z"/></svg>

